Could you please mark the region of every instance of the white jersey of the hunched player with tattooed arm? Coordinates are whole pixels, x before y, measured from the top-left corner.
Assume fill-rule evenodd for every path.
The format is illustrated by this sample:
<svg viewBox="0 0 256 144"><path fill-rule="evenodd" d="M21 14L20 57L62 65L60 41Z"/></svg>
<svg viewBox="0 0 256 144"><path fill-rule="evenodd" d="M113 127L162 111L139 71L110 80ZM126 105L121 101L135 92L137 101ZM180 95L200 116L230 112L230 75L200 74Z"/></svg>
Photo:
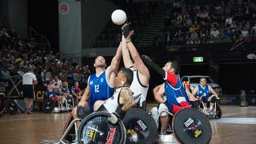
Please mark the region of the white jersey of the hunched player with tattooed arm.
<svg viewBox="0 0 256 144"><path fill-rule="evenodd" d="M103 104L104 107L107 109L108 113L114 113L116 111L117 107L119 106L120 91L123 88L128 88L128 87L117 88L116 91L114 92L113 96L111 98L108 98L105 101L105 103Z"/></svg>

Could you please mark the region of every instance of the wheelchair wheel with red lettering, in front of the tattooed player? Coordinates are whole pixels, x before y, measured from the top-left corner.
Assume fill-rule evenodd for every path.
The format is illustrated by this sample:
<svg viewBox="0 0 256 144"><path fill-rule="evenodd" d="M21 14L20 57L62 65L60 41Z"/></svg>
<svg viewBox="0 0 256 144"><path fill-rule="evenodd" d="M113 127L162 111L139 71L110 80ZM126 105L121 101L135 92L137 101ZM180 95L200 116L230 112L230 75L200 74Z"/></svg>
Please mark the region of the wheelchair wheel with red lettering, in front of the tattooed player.
<svg viewBox="0 0 256 144"><path fill-rule="evenodd" d="M119 120L108 121L109 113L96 112L82 120L78 127L78 143L125 143L126 129Z"/></svg>

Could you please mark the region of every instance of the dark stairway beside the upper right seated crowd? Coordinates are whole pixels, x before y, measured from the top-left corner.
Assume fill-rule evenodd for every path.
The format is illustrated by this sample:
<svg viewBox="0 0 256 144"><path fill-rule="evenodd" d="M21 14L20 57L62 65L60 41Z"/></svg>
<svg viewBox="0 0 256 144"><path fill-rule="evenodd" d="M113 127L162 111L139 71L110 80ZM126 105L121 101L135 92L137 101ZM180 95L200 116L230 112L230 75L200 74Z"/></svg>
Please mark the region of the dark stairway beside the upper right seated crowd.
<svg viewBox="0 0 256 144"><path fill-rule="evenodd" d="M151 26L146 32L145 36L139 43L139 47L152 46L155 37L164 25L164 18L167 15L167 11L172 9L172 3L164 3L159 13L156 15L155 20L152 21Z"/></svg>

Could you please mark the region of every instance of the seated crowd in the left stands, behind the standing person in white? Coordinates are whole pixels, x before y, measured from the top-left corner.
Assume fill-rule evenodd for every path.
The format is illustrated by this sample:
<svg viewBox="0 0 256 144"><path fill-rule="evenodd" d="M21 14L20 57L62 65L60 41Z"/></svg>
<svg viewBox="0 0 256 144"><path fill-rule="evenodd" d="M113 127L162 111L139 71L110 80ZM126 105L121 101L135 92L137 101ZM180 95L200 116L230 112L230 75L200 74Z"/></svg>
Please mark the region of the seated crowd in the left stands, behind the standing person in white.
<svg viewBox="0 0 256 144"><path fill-rule="evenodd" d="M69 82L87 82L91 74L88 65L79 66L72 59L63 59L59 52L42 47L33 47L15 30L1 25L0 31L0 79L22 76L25 68L32 67L39 81L59 76Z"/></svg>

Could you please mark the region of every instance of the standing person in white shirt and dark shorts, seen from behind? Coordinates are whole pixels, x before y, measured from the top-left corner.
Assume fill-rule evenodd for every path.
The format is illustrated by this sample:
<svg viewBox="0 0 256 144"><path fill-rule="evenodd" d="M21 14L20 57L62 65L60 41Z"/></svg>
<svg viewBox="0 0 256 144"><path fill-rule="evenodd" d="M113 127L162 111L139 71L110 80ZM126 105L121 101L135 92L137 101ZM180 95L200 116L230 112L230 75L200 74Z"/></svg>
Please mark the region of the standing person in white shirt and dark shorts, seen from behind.
<svg viewBox="0 0 256 144"><path fill-rule="evenodd" d="M26 113L31 113L31 105L34 101L34 85L37 85L36 75L33 73L33 68L28 67L27 73L23 75L23 95L25 97Z"/></svg>

